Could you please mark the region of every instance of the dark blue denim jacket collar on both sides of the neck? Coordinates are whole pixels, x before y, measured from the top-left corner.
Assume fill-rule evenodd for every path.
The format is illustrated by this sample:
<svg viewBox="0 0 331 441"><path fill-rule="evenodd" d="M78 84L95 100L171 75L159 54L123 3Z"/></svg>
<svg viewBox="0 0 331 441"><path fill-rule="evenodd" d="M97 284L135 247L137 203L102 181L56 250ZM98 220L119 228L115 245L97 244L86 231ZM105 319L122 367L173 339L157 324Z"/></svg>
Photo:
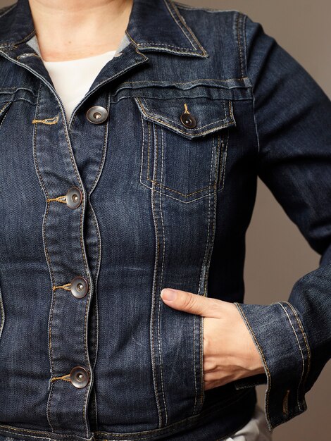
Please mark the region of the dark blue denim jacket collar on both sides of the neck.
<svg viewBox="0 0 331 441"><path fill-rule="evenodd" d="M134 0L125 34L142 52L208 57L172 0ZM0 15L0 47L17 46L34 36L28 0L18 0Z"/></svg>

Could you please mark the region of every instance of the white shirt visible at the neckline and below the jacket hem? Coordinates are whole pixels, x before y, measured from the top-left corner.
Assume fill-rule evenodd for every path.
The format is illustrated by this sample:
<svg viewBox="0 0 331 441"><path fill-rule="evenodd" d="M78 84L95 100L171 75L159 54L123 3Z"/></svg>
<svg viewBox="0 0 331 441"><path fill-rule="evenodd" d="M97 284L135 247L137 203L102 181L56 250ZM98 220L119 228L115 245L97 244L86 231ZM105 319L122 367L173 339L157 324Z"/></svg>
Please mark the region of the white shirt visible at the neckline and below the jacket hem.
<svg viewBox="0 0 331 441"><path fill-rule="evenodd" d="M63 102L68 122L75 106L85 96L96 75L114 54L115 51L108 51L105 54L77 60L44 61L56 92ZM232 437L222 441L270 441L271 435L264 411L256 404L251 420Z"/></svg>

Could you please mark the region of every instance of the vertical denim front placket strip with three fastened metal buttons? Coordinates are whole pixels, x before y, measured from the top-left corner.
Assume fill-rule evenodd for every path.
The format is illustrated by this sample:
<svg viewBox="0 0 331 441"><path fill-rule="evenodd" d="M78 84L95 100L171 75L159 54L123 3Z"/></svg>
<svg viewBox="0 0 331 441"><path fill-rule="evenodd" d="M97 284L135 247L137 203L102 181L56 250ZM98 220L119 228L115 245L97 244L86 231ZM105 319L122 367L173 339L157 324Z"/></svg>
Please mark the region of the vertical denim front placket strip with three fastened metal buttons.
<svg viewBox="0 0 331 441"><path fill-rule="evenodd" d="M47 87L39 92L34 130L35 165L46 197L44 251L51 277L49 305L49 397L51 430L89 437L87 403L92 366L87 318L92 278L83 238L85 189L78 173L61 109ZM58 113L58 122L43 124Z"/></svg>

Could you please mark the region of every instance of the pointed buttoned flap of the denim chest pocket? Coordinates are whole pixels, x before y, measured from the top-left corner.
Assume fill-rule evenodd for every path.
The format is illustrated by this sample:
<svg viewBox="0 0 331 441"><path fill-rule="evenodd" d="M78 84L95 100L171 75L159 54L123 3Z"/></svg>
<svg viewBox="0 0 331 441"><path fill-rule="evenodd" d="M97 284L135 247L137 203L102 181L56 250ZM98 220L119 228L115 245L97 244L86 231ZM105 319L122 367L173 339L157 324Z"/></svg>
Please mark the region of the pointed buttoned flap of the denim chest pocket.
<svg viewBox="0 0 331 441"><path fill-rule="evenodd" d="M230 99L135 97L135 101L145 120L150 120L189 139L236 125ZM182 123L183 113L189 113L194 117L196 122L194 128Z"/></svg>

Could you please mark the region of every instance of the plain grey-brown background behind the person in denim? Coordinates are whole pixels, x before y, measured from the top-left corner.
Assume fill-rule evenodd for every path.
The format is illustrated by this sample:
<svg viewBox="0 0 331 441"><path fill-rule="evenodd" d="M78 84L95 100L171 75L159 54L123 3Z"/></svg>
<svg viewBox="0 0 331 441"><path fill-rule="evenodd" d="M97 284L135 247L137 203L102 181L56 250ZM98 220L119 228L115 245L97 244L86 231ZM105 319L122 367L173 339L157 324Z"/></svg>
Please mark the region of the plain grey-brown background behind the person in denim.
<svg viewBox="0 0 331 441"><path fill-rule="evenodd" d="M182 0L208 8L237 9L263 25L331 97L330 0ZM0 7L13 1L0 0ZM331 201L330 201L331 203ZM285 215L268 188L258 180L254 215L246 236L246 303L287 300L297 279L318 267L316 254ZM330 280L331 283L331 280ZM306 394L308 409L275 428L274 441L331 439L331 363ZM265 385L257 387L264 406Z"/></svg>

